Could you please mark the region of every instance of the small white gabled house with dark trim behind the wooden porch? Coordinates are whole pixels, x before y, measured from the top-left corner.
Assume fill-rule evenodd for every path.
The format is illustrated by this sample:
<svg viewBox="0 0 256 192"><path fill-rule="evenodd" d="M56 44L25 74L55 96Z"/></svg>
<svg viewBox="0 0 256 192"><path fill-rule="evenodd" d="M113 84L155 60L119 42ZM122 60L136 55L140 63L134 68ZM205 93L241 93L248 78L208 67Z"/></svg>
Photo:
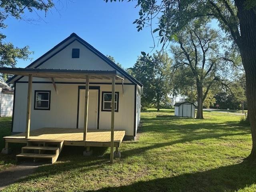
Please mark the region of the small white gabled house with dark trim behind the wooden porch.
<svg viewBox="0 0 256 192"><path fill-rule="evenodd" d="M140 123L142 84L78 35L72 33L25 69L20 70L24 73L28 73L28 70L36 73L36 69L38 73L42 73L42 69L45 69L47 73L51 72L56 76L55 78L33 76L30 130L44 127L74 129L84 127L86 81L85 78L77 78L76 73L78 74L80 70L92 74L88 100L88 128L110 129L111 127L112 80L107 76L101 78L99 75L115 73L123 77L123 79L116 78L115 129L125 130L126 138L136 137ZM66 78L61 76L63 70L69 73ZM93 72L97 75L94 76ZM28 76L14 75L8 83L13 83L15 87L12 132L25 132Z"/></svg>

